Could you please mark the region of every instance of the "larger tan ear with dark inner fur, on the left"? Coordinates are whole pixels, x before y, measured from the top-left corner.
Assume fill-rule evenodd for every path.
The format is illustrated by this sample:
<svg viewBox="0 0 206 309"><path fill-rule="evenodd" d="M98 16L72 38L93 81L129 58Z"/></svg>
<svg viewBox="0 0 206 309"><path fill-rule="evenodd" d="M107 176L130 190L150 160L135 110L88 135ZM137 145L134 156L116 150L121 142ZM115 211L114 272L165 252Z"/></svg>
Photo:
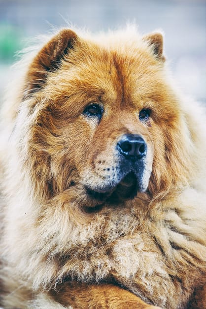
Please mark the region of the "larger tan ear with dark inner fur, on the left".
<svg viewBox="0 0 206 309"><path fill-rule="evenodd" d="M77 39L75 32L63 29L43 46L27 72L25 98L42 88L48 73L59 67L62 58L74 47Z"/></svg>

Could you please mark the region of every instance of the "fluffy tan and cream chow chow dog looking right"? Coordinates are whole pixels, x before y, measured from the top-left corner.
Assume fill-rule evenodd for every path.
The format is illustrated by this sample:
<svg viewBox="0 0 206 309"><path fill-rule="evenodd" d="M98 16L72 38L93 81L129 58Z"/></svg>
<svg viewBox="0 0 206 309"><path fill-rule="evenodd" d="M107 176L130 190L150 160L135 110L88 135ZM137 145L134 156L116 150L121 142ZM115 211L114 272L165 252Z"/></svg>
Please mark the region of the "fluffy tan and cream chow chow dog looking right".
<svg viewBox="0 0 206 309"><path fill-rule="evenodd" d="M159 32L63 29L1 112L1 307L206 308L206 118Z"/></svg>

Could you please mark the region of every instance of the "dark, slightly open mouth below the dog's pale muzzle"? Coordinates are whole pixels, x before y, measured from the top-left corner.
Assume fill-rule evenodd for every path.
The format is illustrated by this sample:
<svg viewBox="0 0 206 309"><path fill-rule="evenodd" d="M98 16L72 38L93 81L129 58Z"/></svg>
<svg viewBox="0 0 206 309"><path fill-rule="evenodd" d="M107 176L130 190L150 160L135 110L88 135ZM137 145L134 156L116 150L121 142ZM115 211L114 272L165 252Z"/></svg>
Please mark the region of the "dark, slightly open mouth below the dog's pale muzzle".
<svg viewBox="0 0 206 309"><path fill-rule="evenodd" d="M106 192L98 192L86 188L87 194L98 202L104 202L108 198L110 201L133 199L137 195L137 176L134 172L127 174L115 187Z"/></svg>

